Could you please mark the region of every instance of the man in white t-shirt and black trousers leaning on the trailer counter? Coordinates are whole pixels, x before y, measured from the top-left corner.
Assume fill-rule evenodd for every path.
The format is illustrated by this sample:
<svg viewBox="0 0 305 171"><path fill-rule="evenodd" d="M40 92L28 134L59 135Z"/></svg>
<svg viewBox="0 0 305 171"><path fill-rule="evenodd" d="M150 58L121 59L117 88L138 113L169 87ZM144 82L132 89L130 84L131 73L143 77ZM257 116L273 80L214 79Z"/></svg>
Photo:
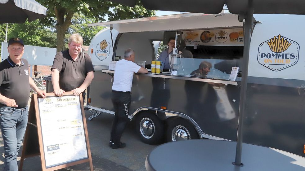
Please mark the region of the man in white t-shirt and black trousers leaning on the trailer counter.
<svg viewBox="0 0 305 171"><path fill-rule="evenodd" d="M134 63L134 50L127 49L124 59L115 65L114 81L112 85L111 100L114 107L114 121L110 132L110 147L113 149L126 147L120 142L123 131L128 123L129 107L131 102L131 86L133 73L148 73L147 69Z"/></svg>

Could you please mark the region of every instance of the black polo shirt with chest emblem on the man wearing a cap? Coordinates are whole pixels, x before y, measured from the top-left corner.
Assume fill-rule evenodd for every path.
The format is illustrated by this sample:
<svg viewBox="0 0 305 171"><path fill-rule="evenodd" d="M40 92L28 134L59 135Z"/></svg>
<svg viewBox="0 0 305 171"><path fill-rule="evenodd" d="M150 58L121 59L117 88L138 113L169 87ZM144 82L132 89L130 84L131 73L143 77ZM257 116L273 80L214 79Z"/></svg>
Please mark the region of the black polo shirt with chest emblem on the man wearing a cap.
<svg viewBox="0 0 305 171"><path fill-rule="evenodd" d="M24 108L29 101L29 63L21 59L21 65L15 64L10 57L0 63L0 93L14 99L18 108ZM0 107L6 106L0 103Z"/></svg>

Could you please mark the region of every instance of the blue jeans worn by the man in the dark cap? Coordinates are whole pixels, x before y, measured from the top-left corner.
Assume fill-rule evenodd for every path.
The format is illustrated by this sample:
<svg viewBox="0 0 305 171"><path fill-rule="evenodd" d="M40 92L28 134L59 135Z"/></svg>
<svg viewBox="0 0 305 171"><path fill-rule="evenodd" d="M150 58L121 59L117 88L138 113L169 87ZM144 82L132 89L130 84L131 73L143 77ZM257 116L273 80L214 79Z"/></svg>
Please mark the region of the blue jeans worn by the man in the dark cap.
<svg viewBox="0 0 305 171"><path fill-rule="evenodd" d="M29 107L0 108L0 128L4 142L4 170L18 171L17 155L28 123Z"/></svg>

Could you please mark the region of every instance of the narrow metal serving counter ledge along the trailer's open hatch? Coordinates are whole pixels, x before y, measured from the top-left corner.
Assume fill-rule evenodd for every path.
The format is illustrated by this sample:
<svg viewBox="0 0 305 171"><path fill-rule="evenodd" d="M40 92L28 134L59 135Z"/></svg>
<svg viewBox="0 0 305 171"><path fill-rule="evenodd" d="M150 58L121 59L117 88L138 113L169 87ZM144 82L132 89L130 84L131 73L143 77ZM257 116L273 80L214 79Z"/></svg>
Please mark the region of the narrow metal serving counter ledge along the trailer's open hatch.
<svg viewBox="0 0 305 171"><path fill-rule="evenodd" d="M103 69L102 72L104 73L114 73L112 70ZM215 80L215 79L207 79L207 78L195 78L195 77L188 77L188 76L179 76L179 75L170 75L170 74L152 74L147 73L143 74L147 77L158 77L158 78L170 78L170 79L179 79L179 80L191 80L191 81L201 81L201 82L212 82L212 83L220 83L220 84L230 84L230 85L238 85L238 81L227 81L227 80Z"/></svg>

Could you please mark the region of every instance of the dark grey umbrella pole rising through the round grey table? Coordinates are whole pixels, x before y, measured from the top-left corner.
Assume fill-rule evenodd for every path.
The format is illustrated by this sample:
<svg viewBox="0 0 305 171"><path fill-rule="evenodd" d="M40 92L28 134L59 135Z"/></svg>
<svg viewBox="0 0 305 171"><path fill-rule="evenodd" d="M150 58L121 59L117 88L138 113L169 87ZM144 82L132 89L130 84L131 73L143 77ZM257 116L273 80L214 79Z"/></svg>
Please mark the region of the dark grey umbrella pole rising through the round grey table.
<svg viewBox="0 0 305 171"><path fill-rule="evenodd" d="M251 30L253 28L253 8L252 0L248 1L248 10L244 17L244 62L242 68L242 80L241 80L241 92L240 92L240 106L239 106L239 118L237 128L237 140L236 140L236 154L235 162L236 166L243 166L241 163L241 151L243 143L243 125L244 125L244 111L246 103L247 92L247 79L248 79L248 64L249 64L249 49L251 40Z"/></svg>

